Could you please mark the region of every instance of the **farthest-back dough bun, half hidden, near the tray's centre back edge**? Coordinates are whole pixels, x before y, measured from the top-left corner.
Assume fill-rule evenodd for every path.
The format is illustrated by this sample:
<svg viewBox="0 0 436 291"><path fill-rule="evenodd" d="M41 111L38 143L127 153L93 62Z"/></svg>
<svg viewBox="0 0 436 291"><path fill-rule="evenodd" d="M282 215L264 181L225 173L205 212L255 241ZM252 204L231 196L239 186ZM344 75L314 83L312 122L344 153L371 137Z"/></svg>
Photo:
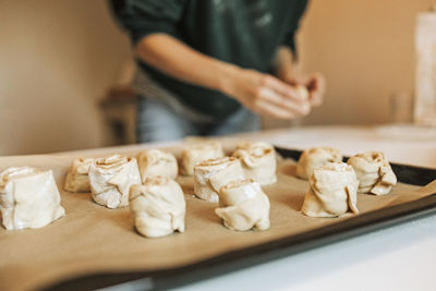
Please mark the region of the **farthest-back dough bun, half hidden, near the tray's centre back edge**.
<svg viewBox="0 0 436 291"><path fill-rule="evenodd" d="M182 169L184 175L194 174L194 166L208 159L222 158L225 153L221 143L217 141L190 144L182 150Z"/></svg>

